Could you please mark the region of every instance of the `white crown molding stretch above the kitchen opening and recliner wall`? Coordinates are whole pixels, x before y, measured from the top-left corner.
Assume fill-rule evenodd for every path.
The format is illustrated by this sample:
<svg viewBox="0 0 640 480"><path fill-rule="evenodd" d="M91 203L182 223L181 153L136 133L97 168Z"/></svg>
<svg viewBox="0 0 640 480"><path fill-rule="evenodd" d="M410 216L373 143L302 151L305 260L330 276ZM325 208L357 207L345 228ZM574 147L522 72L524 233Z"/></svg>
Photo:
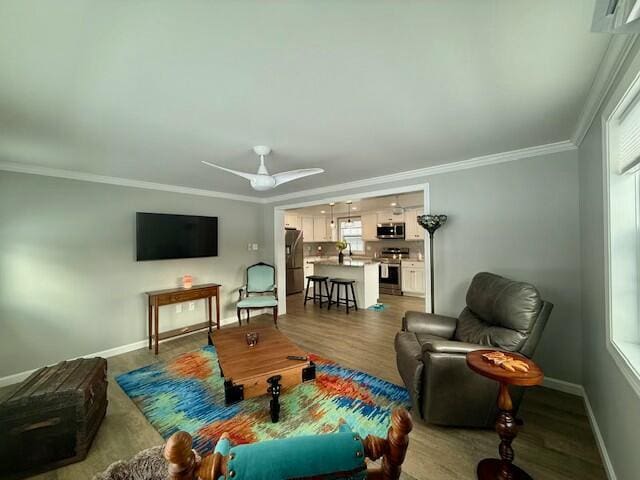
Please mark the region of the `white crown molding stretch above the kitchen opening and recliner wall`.
<svg viewBox="0 0 640 480"><path fill-rule="evenodd" d="M342 192L344 190L350 190L354 188L370 187L372 185L379 185L381 183L398 182L403 180L416 180L419 177L426 177L430 175L438 175L441 173L455 172L458 170L467 170L469 168L484 167L487 165L494 165L496 163L512 162L514 160L522 160L525 158L538 157L541 155L548 155L551 153L565 152L568 150L575 150L577 147L570 141L565 140L562 142L549 143L546 145L538 145L535 147L521 148L519 150L511 150L509 152L495 153L491 155L484 155L482 157L474 157L468 160L462 160L459 162L444 163L442 165L434 165L433 167L419 168L416 170L407 170L399 173L392 173L389 175L382 175L379 177L365 178L362 180L355 180L353 182L341 183L337 185L329 185L326 187L312 188L310 190L304 190L300 192L285 193L283 195L275 195L266 197L263 203L276 203L285 200L291 200L301 197L309 197L312 195L323 195L326 193Z"/></svg>

